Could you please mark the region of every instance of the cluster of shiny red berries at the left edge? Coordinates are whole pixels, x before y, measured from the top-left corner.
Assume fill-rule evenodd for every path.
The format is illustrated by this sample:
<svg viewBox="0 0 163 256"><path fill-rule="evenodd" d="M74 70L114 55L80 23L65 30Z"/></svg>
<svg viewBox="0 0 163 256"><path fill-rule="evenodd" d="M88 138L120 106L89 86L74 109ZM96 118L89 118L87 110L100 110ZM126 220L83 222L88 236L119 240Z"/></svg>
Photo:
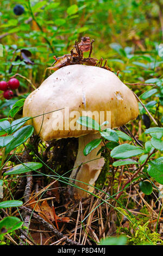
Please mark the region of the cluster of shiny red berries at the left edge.
<svg viewBox="0 0 163 256"><path fill-rule="evenodd" d="M3 90L3 97L7 100L14 96L12 90L17 89L20 86L20 82L16 78L11 78L9 82L1 81L0 90Z"/></svg>

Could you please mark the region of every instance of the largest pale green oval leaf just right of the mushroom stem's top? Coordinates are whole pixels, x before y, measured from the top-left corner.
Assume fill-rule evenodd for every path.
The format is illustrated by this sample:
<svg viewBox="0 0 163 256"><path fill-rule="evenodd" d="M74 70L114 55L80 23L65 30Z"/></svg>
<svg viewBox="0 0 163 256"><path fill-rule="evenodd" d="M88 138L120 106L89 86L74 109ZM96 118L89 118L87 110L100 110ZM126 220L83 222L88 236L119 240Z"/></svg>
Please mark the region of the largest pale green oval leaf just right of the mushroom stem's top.
<svg viewBox="0 0 163 256"><path fill-rule="evenodd" d="M118 147L114 148L111 151L110 156L114 157L116 159L127 159L131 156L137 156L140 155L144 152L143 149L129 145L129 144L122 144L119 145Z"/></svg>

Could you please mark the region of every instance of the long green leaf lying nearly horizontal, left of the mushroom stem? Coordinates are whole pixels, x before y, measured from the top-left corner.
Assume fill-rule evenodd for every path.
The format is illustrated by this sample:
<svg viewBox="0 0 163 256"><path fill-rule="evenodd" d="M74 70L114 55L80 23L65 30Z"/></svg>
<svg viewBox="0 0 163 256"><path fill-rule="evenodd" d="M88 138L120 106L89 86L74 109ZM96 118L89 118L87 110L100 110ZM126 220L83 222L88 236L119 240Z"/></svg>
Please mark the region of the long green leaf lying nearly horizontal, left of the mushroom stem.
<svg viewBox="0 0 163 256"><path fill-rule="evenodd" d="M28 162L28 163L21 163L17 166L14 166L10 170L7 170L3 175L11 175L11 174L21 174L21 173L27 173L31 172L32 170L37 170L42 167L42 163L36 163L36 162Z"/></svg>

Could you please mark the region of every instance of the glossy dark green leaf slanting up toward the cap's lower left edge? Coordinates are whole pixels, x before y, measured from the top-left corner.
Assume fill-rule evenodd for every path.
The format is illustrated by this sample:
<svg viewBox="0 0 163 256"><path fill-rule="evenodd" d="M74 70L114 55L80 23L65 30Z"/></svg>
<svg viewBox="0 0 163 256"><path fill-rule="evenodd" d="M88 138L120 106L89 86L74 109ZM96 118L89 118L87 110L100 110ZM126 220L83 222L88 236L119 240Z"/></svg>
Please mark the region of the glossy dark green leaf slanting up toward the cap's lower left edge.
<svg viewBox="0 0 163 256"><path fill-rule="evenodd" d="M20 130L16 131L13 136L14 139L12 143L7 145L5 149L5 154L10 153L10 151L18 146L20 146L22 143L26 142L27 139L32 136L34 132L34 127L32 125L27 125L22 127Z"/></svg>

